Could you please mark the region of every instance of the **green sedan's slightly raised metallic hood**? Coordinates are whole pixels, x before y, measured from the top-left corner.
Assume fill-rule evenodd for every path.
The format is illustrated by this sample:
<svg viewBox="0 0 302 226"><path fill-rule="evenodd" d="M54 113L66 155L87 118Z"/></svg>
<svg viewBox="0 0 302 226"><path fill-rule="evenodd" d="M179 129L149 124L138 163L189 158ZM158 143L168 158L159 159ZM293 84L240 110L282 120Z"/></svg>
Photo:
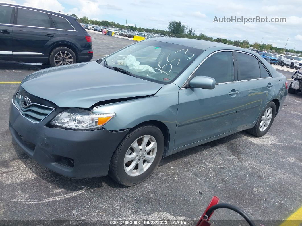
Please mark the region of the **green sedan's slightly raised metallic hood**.
<svg viewBox="0 0 302 226"><path fill-rule="evenodd" d="M21 86L59 107L89 108L104 100L153 95L162 84L116 72L92 61L34 72L24 78Z"/></svg>

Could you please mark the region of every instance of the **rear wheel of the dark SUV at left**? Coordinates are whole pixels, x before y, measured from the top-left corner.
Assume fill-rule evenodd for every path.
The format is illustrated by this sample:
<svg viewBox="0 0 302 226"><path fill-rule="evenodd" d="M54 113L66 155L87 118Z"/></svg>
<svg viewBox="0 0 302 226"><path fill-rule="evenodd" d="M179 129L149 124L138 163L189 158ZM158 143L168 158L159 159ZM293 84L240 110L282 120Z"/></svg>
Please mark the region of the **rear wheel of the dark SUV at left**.
<svg viewBox="0 0 302 226"><path fill-rule="evenodd" d="M74 64L76 54L67 47L57 47L50 53L49 62L52 67Z"/></svg>

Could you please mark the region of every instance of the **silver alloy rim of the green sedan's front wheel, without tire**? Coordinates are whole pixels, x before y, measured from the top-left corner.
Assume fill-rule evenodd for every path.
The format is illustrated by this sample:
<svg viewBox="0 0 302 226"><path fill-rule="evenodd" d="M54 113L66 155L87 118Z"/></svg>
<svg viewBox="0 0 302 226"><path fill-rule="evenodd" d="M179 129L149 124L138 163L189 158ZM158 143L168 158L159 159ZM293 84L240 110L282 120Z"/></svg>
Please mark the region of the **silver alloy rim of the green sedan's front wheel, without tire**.
<svg viewBox="0 0 302 226"><path fill-rule="evenodd" d="M124 158L124 170L132 177L145 172L155 159L157 142L153 136L137 138L128 148Z"/></svg>

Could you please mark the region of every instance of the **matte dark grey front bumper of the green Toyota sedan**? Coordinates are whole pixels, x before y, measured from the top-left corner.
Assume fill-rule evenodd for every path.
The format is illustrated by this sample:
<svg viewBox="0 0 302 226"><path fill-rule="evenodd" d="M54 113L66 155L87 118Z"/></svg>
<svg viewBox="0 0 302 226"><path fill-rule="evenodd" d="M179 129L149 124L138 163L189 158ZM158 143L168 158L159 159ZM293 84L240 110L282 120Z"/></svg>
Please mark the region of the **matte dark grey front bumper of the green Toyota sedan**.
<svg viewBox="0 0 302 226"><path fill-rule="evenodd" d="M108 174L112 154L127 134L106 129L74 131L49 128L55 110L40 123L32 123L11 104L9 129L16 143L33 160L63 176L87 178Z"/></svg>

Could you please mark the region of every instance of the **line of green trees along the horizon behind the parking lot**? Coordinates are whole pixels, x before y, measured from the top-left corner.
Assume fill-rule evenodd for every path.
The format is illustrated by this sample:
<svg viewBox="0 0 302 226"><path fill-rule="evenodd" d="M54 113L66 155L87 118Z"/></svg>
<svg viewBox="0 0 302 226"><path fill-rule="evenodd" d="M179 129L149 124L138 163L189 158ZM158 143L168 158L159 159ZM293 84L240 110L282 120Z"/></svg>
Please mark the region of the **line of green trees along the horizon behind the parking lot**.
<svg viewBox="0 0 302 226"><path fill-rule="evenodd" d="M72 14L71 16L78 18L77 15ZM104 27L118 27L118 28L126 28L125 25L115 23L114 21L96 21L96 20L91 20L88 17L82 17L78 18L78 21L83 24L95 24L99 26L104 26ZM242 48L249 48L253 47L255 49L259 50L274 50L275 52L282 53L284 51L284 48L278 48L278 47L273 47L271 44L261 44L254 42L254 43L249 43L247 39L245 40L229 40L226 38L213 38L210 36L207 36L204 33L200 34L195 34L195 30L193 28L189 28L187 25L182 24L181 21L170 21L167 27L167 30L162 30L162 29L155 29L155 28L144 28L144 27L137 27L135 26L127 26L127 29L130 30L136 30L138 32L153 32L153 33L161 33L165 35L172 35L175 37L180 37L180 38L195 38L195 39L202 39L202 40L209 40L209 41L214 41L214 42L220 42L220 43L226 43L230 44L233 46L239 46ZM285 52L291 52L291 53L298 53L302 54L302 51L300 50L293 50L293 49L285 49Z"/></svg>

